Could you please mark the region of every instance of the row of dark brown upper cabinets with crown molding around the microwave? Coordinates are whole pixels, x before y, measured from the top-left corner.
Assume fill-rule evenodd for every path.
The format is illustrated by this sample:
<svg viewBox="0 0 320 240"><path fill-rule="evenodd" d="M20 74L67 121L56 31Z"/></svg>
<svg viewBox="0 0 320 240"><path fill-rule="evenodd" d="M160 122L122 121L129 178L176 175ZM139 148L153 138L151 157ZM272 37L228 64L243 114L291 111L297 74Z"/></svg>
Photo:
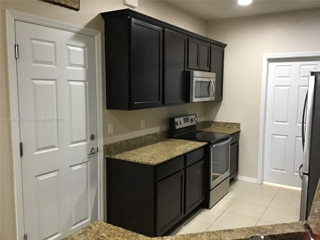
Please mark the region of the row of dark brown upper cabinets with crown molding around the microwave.
<svg viewBox="0 0 320 240"><path fill-rule="evenodd" d="M187 102L189 83L185 70L211 70L210 48L226 46L131 9L102 12L101 16L108 109L133 110Z"/></svg>

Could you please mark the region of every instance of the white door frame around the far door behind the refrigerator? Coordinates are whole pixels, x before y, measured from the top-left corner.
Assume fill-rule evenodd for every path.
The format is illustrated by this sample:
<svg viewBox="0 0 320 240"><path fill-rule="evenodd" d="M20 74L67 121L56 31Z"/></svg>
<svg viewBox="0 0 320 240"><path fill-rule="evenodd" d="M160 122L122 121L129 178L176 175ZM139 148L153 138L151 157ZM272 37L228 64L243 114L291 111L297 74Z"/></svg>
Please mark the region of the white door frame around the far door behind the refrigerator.
<svg viewBox="0 0 320 240"><path fill-rule="evenodd" d="M263 181L265 111L266 111L266 97L267 97L267 84L268 84L267 82L268 64L270 61L276 60L276 59L289 60L290 58L294 58L294 60L297 60L298 58L307 58L307 57L320 57L320 52L264 54L262 57L257 183L262 183Z"/></svg>

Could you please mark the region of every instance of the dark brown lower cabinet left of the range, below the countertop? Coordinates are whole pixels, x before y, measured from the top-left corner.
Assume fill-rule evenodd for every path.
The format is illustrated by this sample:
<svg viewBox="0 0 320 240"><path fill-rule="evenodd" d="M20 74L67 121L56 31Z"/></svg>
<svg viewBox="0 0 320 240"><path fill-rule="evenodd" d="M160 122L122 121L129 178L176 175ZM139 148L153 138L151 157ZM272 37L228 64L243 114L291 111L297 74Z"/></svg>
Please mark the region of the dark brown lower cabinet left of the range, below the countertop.
<svg viewBox="0 0 320 240"><path fill-rule="evenodd" d="M147 236L174 230L203 203L206 147L155 166L107 158L107 222Z"/></svg>

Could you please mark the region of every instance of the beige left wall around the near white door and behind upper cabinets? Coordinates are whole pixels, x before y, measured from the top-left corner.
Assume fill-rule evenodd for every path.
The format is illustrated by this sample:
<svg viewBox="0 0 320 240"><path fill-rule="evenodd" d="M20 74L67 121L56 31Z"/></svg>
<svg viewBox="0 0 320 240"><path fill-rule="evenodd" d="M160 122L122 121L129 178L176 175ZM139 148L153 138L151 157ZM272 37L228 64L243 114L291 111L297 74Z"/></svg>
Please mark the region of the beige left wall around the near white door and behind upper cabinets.
<svg viewBox="0 0 320 240"><path fill-rule="evenodd" d="M78 26L86 26L100 30L103 33L103 20L99 13L104 11L127 8L122 4L122 0L80 0L80 10L74 11L57 5L49 4L39 0L0 0L0 106L1 117L9 116L9 92L7 77L7 52L6 52L6 29L5 29L5 9L10 8L22 12L27 12L47 18L52 18ZM206 35L207 22L199 19L170 3L164 1L140 0L139 6L135 10L180 26L190 31ZM10 43L13 44L13 43ZM104 50L103 50L104 51ZM104 54L102 56L104 66ZM104 67L103 67L104 68ZM104 79L104 72L103 72ZM104 84L103 84L104 88ZM104 91L104 89L103 89ZM105 92L105 91L104 91ZM103 96L105 99L105 96ZM105 104L105 103L104 103ZM204 116L204 103L191 103L181 106L160 107L154 109L144 109L135 111L103 110L104 141L110 142L116 139L124 139L135 135L165 129L167 118L176 113L199 111L200 116ZM140 118L145 119L145 129L140 129ZM107 137L107 123L113 123L114 133L112 137ZM0 202L0 239L15 238L15 217L14 217L14 191L13 191L13 162L11 149L10 126L0 122L0 146L1 146L1 202ZM128 135L127 133L130 132Z"/></svg>

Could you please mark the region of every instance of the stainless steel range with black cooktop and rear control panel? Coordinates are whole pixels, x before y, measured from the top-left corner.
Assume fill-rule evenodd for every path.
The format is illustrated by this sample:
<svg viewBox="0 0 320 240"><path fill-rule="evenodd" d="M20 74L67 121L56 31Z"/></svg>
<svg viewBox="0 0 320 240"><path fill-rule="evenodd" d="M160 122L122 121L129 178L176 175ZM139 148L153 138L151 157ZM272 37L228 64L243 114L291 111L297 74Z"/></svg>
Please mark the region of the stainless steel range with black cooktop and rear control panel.
<svg viewBox="0 0 320 240"><path fill-rule="evenodd" d="M229 191L231 136L196 130L196 114L172 117L169 123L170 137L208 143L207 207L211 208Z"/></svg>

